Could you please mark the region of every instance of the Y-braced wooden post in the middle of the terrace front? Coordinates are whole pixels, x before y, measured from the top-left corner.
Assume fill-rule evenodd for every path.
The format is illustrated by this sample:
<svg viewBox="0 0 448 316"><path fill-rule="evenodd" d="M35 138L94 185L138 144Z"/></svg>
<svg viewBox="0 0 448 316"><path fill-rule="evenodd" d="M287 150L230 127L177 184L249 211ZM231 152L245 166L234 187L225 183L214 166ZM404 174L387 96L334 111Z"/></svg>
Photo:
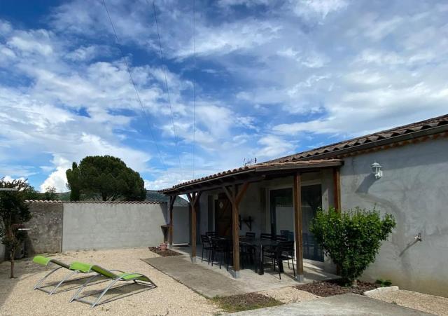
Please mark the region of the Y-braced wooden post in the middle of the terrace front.
<svg viewBox="0 0 448 316"><path fill-rule="evenodd" d="M239 277L239 202L246 193L249 186L248 182L243 184L241 191L237 193L237 186L232 189L223 186L225 194L232 203L232 245L233 245L233 272L234 277Z"/></svg>

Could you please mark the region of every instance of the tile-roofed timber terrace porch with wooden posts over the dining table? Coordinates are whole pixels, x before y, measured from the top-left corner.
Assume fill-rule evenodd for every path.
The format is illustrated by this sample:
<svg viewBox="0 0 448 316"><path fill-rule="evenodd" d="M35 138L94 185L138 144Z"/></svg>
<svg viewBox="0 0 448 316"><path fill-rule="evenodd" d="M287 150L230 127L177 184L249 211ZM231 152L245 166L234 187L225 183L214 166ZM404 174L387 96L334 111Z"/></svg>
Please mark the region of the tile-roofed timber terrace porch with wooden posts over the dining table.
<svg viewBox="0 0 448 316"><path fill-rule="evenodd" d="M287 191L287 194L292 195L290 196L290 198L292 198L292 203L290 204L292 205L288 217L279 219L277 216L276 218L277 221L284 222L288 221L288 219L290 219L289 222L293 221L293 223L288 224L293 226L291 227L291 231L293 231L293 240L295 241L295 261L297 267L296 279L301 282L304 279L304 240L302 232L304 226L304 221L302 220L303 186L307 183L320 184L321 189L318 191L317 195L320 195L318 198L321 199L321 202L318 207L326 208L334 206L336 209L340 209L339 167L341 167L342 164L343 161L339 159L300 160L286 163L259 163L220 172L209 177L195 179L162 190L162 193L169 195L169 246L173 247L173 230L176 229L176 227L173 226L173 217L176 216L176 214L173 214L173 205L178 195L186 195L190 202L190 256L193 262L196 261L197 257L198 235L204 234L205 231L210 228L216 229L220 226L221 219L216 215L218 206L214 206L217 205L217 203L214 204L213 197L224 197L230 202L228 212L231 212L231 220L230 214L228 214L228 218L229 221L231 221L231 223L229 223L229 236L231 237L233 246L232 275L234 275L234 277L239 277L239 238L242 232L241 228L245 225L244 223L241 224L241 212L244 213L244 208L251 208L251 212L255 212L252 214L259 214L255 221L258 221L258 230L260 232L269 229L279 229L275 228L275 223L272 223L272 221L275 222L275 219L272 219L272 207L270 207L271 209L269 209L269 206L266 207L266 200L269 200L269 196L264 198L263 195L267 195L267 191L262 191L263 193L258 194L258 191L260 191L258 188L273 186L275 184L281 188L289 188L290 191ZM257 198L254 198L254 194L246 194L251 186L257 186L256 189L253 189L253 191L258 194ZM204 197L204 195L207 195L207 197ZM323 195L325 195L324 203L322 202ZM201 198L202 202L200 202ZM200 205L202 205L202 207L200 207ZM245 206L241 208L241 205ZM263 214L262 209L264 209ZM267 209L269 209L269 212ZM200 213L204 213L202 219L208 214L208 226L207 224L201 224L201 221L198 221L197 217ZM271 218L271 221L269 221L269 217ZM309 221L308 215L307 221ZM249 224L246 223L246 226L252 231L250 221ZM199 229L198 226L200 226ZM277 223L276 226L279 226L279 223ZM245 228L248 229L247 227Z"/></svg>

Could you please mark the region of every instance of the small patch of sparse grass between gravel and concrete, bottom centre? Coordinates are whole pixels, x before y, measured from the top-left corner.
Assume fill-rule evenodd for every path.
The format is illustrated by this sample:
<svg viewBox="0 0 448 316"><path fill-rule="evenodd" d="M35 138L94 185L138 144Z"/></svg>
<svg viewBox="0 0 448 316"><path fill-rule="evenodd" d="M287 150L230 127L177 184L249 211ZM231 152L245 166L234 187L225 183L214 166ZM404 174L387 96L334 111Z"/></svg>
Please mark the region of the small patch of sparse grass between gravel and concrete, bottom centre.
<svg viewBox="0 0 448 316"><path fill-rule="evenodd" d="M258 293L216 296L211 298L211 300L226 312L241 312L243 310L255 310L256 308L265 308L283 304L275 298Z"/></svg>

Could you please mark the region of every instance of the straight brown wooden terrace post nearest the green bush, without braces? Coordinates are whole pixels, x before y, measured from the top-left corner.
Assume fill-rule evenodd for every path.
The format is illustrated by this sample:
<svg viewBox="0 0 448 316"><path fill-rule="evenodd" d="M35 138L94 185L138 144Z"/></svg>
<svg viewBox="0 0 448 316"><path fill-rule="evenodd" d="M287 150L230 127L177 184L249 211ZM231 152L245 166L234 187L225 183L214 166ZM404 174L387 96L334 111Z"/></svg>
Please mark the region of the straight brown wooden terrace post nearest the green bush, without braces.
<svg viewBox="0 0 448 316"><path fill-rule="evenodd" d="M295 230L295 262L297 264L296 280L303 282L303 236L302 236L302 189L301 174L294 174L293 204Z"/></svg>

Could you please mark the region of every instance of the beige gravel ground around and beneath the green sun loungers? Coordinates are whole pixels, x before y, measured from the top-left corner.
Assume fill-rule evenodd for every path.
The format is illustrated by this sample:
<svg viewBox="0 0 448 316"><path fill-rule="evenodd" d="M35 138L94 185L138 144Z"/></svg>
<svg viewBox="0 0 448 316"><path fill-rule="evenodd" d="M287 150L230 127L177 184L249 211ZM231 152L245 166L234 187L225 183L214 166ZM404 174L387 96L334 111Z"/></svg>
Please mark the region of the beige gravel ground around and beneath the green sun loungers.
<svg viewBox="0 0 448 316"><path fill-rule="evenodd" d="M103 298L117 298L115 301L90 309L90 305L85 303L69 303L74 293L73 287L79 282L71 282L60 288L66 291L49 296L33 290L34 284L49 270L48 267L38 266L29 259L17 261L16 278L11 280L8 275L9 262L3 262L0 263L0 315L213 315L220 312L216 305L203 296L141 261L141 258L158 256L148 248L66 252L54 256L68 263L82 261L109 269L139 272L148 276L158 287L141 291L144 288L136 284L123 286ZM67 271L62 270L54 273L49 282L60 280ZM106 284L88 287L85 293L102 289ZM85 299L93 301L93 298L91 295Z"/></svg>

